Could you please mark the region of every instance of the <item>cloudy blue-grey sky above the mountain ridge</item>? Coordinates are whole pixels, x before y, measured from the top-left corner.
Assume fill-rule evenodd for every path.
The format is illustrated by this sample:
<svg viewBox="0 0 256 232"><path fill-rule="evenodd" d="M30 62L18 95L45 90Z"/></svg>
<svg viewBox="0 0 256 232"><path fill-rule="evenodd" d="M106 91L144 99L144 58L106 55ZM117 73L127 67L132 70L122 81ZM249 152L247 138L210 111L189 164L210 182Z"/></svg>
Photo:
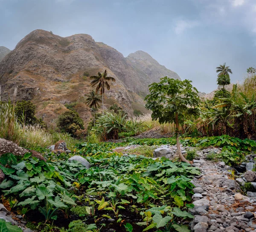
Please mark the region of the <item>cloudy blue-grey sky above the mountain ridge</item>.
<svg viewBox="0 0 256 232"><path fill-rule="evenodd" d="M0 46L35 29L143 50L201 92L217 88L216 66L236 83L256 64L256 0L0 0Z"/></svg>

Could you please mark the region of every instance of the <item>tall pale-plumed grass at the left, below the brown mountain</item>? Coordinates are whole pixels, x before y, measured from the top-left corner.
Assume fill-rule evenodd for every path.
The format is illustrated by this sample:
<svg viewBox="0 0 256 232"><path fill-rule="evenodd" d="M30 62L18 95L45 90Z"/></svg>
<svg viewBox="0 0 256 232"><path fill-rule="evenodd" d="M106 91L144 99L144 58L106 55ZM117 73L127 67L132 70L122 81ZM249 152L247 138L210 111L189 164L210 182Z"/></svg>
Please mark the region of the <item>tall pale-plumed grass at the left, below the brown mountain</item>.
<svg viewBox="0 0 256 232"><path fill-rule="evenodd" d="M40 125L22 125L15 115L15 105L11 101L0 103L0 138L11 140L29 149L46 147L64 140L72 149L79 142L68 133L49 133Z"/></svg>

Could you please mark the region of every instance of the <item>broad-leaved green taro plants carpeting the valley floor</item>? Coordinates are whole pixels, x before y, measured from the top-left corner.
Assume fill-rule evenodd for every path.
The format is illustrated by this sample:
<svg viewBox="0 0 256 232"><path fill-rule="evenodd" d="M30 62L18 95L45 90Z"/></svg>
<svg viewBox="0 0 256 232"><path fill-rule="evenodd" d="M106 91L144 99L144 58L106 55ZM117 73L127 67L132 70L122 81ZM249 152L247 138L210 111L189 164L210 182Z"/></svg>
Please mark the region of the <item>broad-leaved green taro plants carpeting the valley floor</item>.
<svg viewBox="0 0 256 232"><path fill-rule="evenodd" d="M182 138L181 143L200 149L222 147L218 158L226 163L239 163L246 152L256 149L253 140L229 136ZM130 155L112 152L134 144L141 146L130 150ZM193 207L194 187L190 180L200 172L187 163L141 155L150 157L156 145L162 144L174 145L175 140L79 143L72 155L87 157L90 169L68 162L67 154L49 154L47 162L30 154L23 158L2 155L0 169L6 175L0 184L2 201L24 215L32 229L43 232L189 231L186 225L192 218L188 209Z"/></svg>

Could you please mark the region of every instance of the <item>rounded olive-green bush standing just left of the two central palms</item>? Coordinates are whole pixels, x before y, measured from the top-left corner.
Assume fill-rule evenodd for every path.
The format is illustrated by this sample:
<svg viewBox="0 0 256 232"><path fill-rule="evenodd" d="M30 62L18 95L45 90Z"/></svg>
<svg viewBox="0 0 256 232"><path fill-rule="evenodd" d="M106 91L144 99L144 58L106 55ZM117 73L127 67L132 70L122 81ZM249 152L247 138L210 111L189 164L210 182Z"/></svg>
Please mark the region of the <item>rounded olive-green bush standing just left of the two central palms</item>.
<svg viewBox="0 0 256 232"><path fill-rule="evenodd" d="M58 117L57 126L62 132L74 135L79 129L84 129L84 122L75 111L67 111Z"/></svg>

